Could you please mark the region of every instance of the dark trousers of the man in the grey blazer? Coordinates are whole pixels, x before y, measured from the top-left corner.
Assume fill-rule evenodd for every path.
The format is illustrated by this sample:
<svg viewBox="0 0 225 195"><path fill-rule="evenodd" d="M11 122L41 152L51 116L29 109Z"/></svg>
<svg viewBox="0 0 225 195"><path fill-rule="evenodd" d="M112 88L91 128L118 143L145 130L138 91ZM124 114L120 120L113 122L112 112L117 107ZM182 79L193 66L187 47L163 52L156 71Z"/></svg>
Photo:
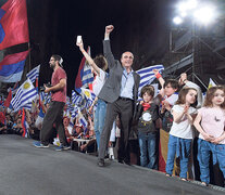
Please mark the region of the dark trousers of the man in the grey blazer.
<svg viewBox="0 0 225 195"><path fill-rule="evenodd" d="M104 127L100 138L99 159L104 159L104 153L107 151L108 143L110 140L111 129L115 120L115 117L118 115L121 120L121 139L117 158L118 161L129 160L128 138L133 119L133 105L134 104L132 100L124 99L117 99L113 103L108 103Z"/></svg>

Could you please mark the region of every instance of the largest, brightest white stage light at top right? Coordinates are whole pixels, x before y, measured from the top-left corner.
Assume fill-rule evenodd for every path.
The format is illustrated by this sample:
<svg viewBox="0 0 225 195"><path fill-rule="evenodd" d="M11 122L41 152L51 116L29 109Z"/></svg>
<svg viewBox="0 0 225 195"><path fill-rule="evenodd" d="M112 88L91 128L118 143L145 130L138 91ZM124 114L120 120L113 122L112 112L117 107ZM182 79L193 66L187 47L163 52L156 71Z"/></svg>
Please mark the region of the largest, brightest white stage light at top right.
<svg viewBox="0 0 225 195"><path fill-rule="evenodd" d="M212 5L203 6L193 13L193 17L197 22L207 25L215 18L215 9Z"/></svg>

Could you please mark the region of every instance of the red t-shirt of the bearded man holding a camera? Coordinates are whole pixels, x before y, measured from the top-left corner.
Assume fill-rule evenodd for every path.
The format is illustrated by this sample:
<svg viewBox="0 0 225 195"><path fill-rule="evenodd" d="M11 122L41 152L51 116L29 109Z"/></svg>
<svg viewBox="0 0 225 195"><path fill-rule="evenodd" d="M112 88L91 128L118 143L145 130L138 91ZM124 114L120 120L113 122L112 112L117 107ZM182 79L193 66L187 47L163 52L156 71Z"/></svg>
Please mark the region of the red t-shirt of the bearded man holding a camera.
<svg viewBox="0 0 225 195"><path fill-rule="evenodd" d="M67 77L65 70L59 67L52 74L51 84L52 86L58 84L61 79L67 79ZM66 84L61 90L51 91L51 94L52 94L51 95L52 101L66 103Z"/></svg>

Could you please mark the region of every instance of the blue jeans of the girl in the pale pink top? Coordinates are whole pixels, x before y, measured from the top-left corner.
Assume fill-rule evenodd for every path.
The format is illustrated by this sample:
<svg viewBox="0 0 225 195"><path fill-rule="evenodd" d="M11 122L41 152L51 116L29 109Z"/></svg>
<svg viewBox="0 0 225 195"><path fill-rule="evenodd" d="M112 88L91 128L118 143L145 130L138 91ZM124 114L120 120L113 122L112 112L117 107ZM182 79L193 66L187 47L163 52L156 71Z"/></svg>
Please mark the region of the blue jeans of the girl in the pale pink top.
<svg viewBox="0 0 225 195"><path fill-rule="evenodd" d="M213 155L213 165L218 162L221 171L225 178L225 144L213 144L202 139L198 140L198 160L200 166L200 179L202 182L210 183L210 154Z"/></svg>

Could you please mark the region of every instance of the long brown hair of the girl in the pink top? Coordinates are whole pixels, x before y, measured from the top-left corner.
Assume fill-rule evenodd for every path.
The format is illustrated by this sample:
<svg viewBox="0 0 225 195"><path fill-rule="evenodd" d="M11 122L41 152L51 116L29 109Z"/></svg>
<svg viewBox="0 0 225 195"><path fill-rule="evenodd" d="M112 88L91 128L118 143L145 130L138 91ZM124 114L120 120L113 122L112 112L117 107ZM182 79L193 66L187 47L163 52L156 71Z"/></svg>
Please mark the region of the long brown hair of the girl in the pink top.
<svg viewBox="0 0 225 195"><path fill-rule="evenodd" d="M213 107L212 99L214 98L214 94L215 94L216 90L222 90L225 93L225 87L224 86L211 87L207 91L207 96L204 99L204 105L203 105L204 107ZM221 104L221 108L225 109L225 101L223 102L223 104Z"/></svg>

